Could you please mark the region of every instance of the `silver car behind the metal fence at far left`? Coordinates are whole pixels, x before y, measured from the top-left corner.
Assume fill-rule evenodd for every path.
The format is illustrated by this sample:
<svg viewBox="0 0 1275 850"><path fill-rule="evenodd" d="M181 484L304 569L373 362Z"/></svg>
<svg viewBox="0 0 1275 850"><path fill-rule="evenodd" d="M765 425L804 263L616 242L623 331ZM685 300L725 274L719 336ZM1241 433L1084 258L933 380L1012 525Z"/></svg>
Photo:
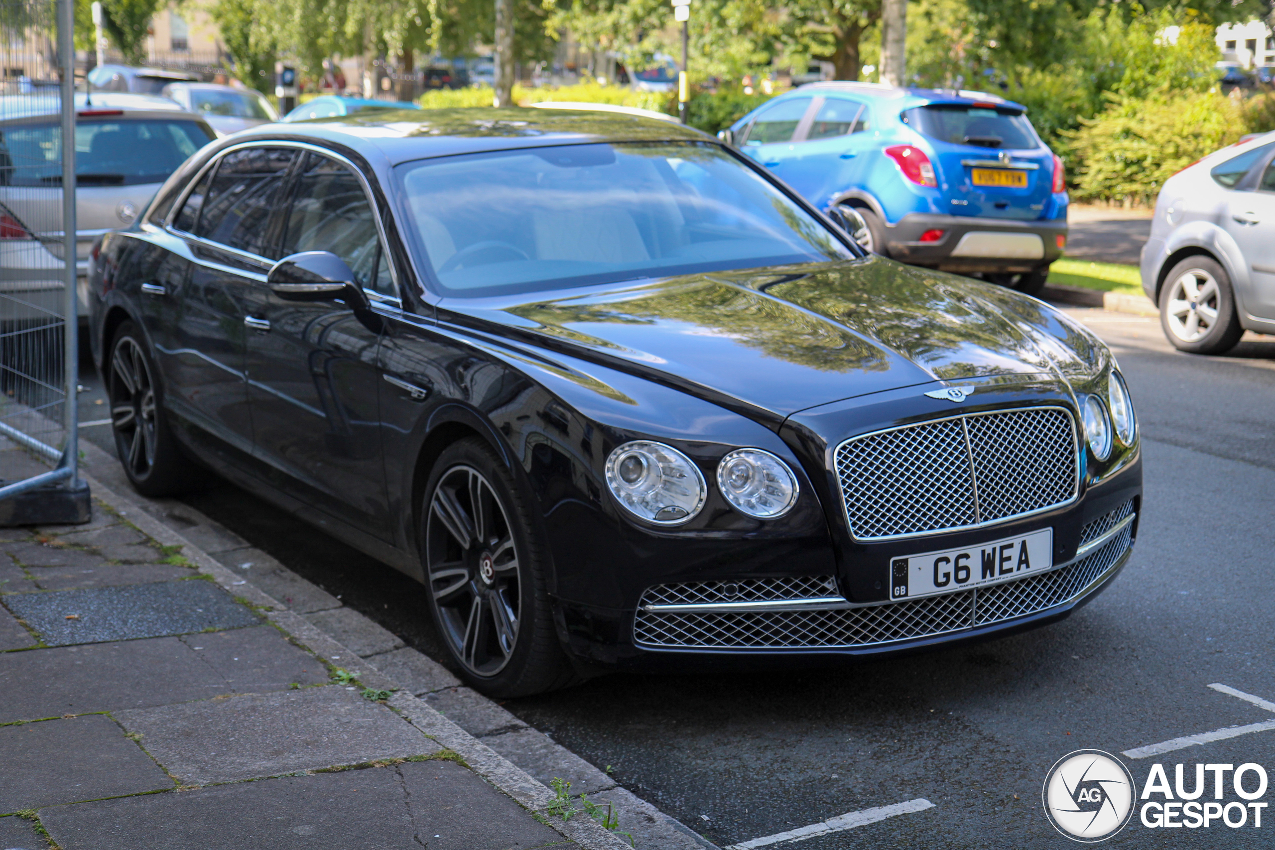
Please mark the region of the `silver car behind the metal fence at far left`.
<svg viewBox="0 0 1275 850"><path fill-rule="evenodd" d="M62 268L60 102L56 93L0 97L0 245L8 292L15 280L31 284L33 293L51 292L48 282ZM163 97L82 93L75 110L75 254L85 311L93 243L133 224L163 181L217 134ZM54 296L32 296L45 297Z"/></svg>

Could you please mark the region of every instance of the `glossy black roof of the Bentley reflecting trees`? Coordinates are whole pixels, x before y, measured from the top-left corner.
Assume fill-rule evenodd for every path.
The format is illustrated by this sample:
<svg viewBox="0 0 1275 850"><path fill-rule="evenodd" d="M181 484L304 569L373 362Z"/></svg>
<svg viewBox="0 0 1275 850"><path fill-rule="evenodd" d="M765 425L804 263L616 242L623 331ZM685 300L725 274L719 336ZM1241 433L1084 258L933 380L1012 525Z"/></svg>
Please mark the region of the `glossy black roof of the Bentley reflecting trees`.
<svg viewBox="0 0 1275 850"><path fill-rule="evenodd" d="M233 135L326 141L390 166L484 150L606 141L713 141L705 133L639 115L510 108L377 110L332 119L263 124ZM375 157L372 155L375 154Z"/></svg>

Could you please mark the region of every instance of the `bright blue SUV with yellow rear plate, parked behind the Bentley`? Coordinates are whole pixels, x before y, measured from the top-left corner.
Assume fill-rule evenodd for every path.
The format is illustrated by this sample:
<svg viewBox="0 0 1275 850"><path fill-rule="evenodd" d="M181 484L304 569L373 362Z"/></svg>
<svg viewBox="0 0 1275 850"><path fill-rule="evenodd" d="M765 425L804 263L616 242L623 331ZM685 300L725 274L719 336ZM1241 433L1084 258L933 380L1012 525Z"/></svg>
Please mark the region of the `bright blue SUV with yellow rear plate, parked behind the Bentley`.
<svg viewBox="0 0 1275 850"><path fill-rule="evenodd" d="M1067 243L1062 161L982 92L810 83L719 135L863 247L1035 294Z"/></svg>

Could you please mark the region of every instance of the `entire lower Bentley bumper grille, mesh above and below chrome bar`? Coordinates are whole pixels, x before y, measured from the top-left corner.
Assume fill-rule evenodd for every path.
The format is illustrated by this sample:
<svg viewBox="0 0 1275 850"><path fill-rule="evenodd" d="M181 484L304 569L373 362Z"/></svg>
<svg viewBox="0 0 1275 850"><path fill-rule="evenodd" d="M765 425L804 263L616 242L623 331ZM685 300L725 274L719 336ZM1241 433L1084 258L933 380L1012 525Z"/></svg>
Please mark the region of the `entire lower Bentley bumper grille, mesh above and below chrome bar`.
<svg viewBox="0 0 1275 850"><path fill-rule="evenodd" d="M1133 512L1133 503L1089 522L1081 545L1099 540ZM720 586L748 584L748 601L796 603L835 593L830 576L750 582L660 585L643 594L634 621L639 646L660 649L850 649L945 635L1034 614L1084 595L1128 552L1132 524L1086 557L1017 581L861 608L760 612L646 610L646 605L733 601ZM799 589L797 596L792 591Z"/></svg>

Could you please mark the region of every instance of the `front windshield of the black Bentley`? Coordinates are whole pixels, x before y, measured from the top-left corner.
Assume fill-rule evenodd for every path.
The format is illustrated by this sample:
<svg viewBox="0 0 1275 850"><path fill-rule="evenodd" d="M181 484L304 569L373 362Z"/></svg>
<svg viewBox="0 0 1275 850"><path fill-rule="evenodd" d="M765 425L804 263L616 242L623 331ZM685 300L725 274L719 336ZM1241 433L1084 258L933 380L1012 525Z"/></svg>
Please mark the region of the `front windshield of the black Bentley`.
<svg viewBox="0 0 1275 850"><path fill-rule="evenodd" d="M717 145L584 144L395 171L445 294L537 292L854 254Z"/></svg>

